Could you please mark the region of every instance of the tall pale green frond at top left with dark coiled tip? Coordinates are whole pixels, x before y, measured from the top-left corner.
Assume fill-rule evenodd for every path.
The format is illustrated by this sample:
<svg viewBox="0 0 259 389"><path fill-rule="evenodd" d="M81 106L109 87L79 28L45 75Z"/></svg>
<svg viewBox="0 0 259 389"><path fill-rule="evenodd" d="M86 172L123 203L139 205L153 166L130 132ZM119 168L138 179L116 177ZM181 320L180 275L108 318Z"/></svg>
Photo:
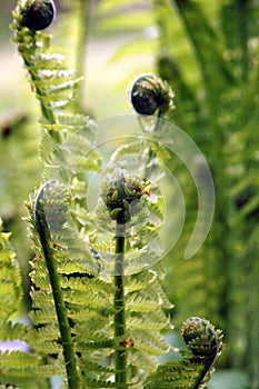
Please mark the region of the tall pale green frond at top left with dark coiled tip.
<svg viewBox="0 0 259 389"><path fill-rule="evenodd" d="M58 156L63 176L71 178L71 170L67 156L61 151L62 143L70 136L73 142L86 143L89 147L89 136L92 129L84 131L84 138L76 137L77 132L86 129L88 118L82 114L66 112L71 106L81 78L76 77L74 69L67 69L64 57L51 51L51 34L47 28L54 18L52 0L27 0L18 1L13 11L13 42L23 59L31 89L41 107L41 124L44 130L40 154L46 166L50 166ZM83 139L82 139L83 138ZM88 138L88 139L87 139ZM86 149L84 149L86 151ZM77 156L78 162L80 156ZM92 166L94 162L92 163ZM46 171L44 171L46 173Z"/></svg>

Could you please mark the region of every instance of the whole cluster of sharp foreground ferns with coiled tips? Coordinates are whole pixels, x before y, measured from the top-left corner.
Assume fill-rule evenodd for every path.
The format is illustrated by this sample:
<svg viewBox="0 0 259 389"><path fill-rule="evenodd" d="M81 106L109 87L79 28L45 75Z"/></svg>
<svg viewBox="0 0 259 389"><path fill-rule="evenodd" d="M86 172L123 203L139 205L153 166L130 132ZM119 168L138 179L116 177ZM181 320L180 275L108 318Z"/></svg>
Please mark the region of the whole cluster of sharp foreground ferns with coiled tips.
<svg viewBox="0 0 259 389"><path fill-rule="evenodd" d="M0 236L7 273L0 292L12 297L1 339L19 338L30 348L1 355L0 383L49 388L51 377L62 376L62 388L69 389L202 388L222 348L220 332L207 320L185 323L189 353L182 360L158 367L156 358L170 349L161 331L172 328L165 311L172 305L160 283L165 209L158 161L169 158L160 142L160 118L173 107L173 93L158 78L138 79L133 107L140 114L157 113L151 127L143 127L149 137L120 146L101 166L96 126L74 114L71 104L80 79L51 52L51 37L42 31L53 16L51 0L19 1L13 12L13 40L42 111L44 169L42 186L27 203L36 252L31 326L12 325L20 279L8 236ZM127 169L130 148L141 156L138 174ZM99 201L90 213L89 177L100 169Z"/></svg>

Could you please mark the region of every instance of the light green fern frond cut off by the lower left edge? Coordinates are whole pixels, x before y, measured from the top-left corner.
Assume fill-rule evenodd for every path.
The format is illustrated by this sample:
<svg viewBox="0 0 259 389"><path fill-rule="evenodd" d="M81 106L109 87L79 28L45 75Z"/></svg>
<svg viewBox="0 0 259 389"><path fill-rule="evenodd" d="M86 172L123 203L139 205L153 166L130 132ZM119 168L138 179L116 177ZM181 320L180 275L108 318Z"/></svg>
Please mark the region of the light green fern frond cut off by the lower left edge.
<svg viewBox="0 0 259 389"><path fill-rule="evenodd" d="M9 242L10 233L2 232L0 220L0 339L2 341L20 340L28 345L30 328L22 323L12 323L11 316L20 308L22 297L21 277L16 262L16 255ZM24 343L24 345L26 345ZM40 363L40 357L24 351L0 352L0 382L18 385L19 388L37 387L33 367Z"/></svg>

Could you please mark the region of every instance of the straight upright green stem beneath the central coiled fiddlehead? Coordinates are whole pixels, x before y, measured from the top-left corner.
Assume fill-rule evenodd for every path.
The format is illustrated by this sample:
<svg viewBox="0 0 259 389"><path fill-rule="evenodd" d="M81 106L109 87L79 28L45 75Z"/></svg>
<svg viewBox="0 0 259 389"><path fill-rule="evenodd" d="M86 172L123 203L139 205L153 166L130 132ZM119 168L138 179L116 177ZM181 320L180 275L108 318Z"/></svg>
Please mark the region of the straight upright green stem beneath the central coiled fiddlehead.
<svg viewBox="0 0 259 389"><path fill-rule="evenodd" d="M118 179L119 198L123 199L123 177ZM114 266L114 337L126 336L126 316L124 316L124 285L123 285L123 261L124 261L124 220L123 212L117 220L117 237L116 237L116 266ZM122 347L121 342L121 347ZM114 352L116 363L116 383L119 383L119 389L127 388L127 351L126 348L117 349Z"/></svg>

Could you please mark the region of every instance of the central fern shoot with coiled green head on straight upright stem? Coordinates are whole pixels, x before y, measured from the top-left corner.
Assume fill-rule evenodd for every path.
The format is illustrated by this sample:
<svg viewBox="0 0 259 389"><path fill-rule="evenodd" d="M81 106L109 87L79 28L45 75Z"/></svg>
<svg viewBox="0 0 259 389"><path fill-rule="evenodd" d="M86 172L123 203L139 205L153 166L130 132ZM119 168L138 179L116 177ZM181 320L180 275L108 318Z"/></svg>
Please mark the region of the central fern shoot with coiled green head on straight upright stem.
<svg viewBox="0 0 259 389"><path fill-rule="evenodd" d="M136 178L124 178L118 171L116 181L110 182L106 205L111 219L116 220L116 258L114 258L114 337L121 338L120 348L114 352L116 383L119 388L127 387L127 347L133 347L135 340L127 340L126 293L124 293L124 253L127 228L131 219L130 205L140 201L141 182ZM132 211L132 209L131 209Z"/></svg>

